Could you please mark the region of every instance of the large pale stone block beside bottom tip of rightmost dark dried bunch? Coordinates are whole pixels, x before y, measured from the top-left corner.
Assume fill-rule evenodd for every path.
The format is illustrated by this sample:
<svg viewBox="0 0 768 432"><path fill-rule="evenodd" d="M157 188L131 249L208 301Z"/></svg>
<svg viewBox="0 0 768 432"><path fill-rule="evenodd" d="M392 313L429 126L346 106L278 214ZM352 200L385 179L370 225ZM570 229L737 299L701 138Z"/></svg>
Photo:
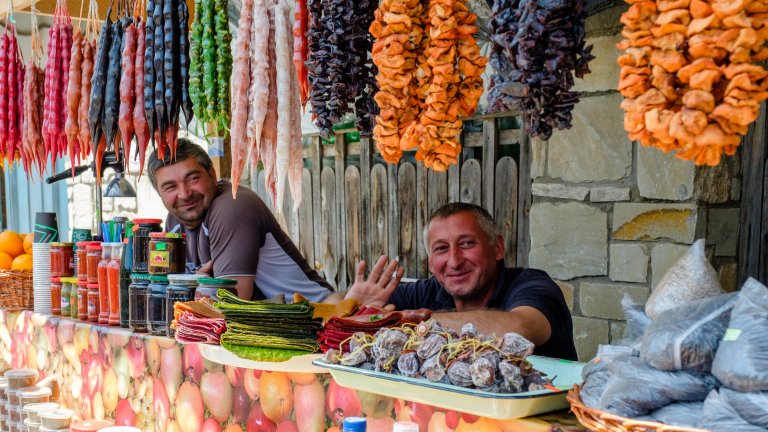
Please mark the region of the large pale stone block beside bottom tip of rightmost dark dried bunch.
<svg viewBox="0 0 768 432"><path fill-rule="evenodd" d="M549 177L583 183L629 175L632 143L622 127L621 100L620 94L613 93L579 101L573 110L573 127L555 131L549 140Z"/></svg>

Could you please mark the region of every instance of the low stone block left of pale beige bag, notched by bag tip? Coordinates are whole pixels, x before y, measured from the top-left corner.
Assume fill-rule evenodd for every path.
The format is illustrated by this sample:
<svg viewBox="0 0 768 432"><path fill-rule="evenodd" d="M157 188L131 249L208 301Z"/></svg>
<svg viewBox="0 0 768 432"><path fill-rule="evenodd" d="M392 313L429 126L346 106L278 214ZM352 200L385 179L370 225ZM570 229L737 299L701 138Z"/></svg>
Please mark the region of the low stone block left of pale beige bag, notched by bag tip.
<svg viewBox="0 0 768 432"><path fill-rule="evenodd" d="M637 303L645 303L650 293L645 285L582 282L579 285L579 308L585 317L623 320L621 299L625 294Z"/></svg>

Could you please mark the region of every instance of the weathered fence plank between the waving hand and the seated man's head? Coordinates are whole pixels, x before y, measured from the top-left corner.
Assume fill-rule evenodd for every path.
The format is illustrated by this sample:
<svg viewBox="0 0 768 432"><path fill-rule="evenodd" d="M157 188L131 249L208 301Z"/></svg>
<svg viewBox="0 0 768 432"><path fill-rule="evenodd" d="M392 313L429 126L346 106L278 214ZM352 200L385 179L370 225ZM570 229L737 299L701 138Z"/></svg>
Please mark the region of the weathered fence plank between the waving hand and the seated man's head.
<svg viewBox="0 0 768 432"><path fill-rule="evenodd" d="M406 277L418 276L418 243L421 242L416 229L416 167L406 162L397 172L397 189L400 197L400 265Z"/></svg>

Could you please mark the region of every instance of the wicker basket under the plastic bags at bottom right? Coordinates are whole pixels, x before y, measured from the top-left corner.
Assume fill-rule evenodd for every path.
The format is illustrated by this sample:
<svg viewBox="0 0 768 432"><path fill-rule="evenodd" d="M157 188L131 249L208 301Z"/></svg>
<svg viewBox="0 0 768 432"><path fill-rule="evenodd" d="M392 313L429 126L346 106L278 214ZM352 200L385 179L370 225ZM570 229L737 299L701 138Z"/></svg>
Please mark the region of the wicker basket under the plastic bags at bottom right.
<svg viewBox="0 0 768 432"><path fill-rule="evenodd" d="M579 397L581 386L576 384L568 391L571 411L579 422L591 431L597 432L708 432L705 429L673 426L663 423L648 422L620 417L599 409L590 408Z"/></svg>

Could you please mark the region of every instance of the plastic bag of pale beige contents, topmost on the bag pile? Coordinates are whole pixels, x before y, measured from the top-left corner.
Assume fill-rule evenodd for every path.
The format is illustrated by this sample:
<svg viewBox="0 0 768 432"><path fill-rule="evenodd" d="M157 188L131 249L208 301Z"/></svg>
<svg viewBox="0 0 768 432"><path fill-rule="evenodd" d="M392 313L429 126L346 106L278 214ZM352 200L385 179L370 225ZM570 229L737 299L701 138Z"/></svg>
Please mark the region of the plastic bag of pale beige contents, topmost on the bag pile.
<svg viewBox="0 0 768 432"><path fill-rule="evenodd" d="M667 309L722 293L717 272L704 253L704 239L699 239L661 278L648 297L645 312L655 320Z"/></svg>

